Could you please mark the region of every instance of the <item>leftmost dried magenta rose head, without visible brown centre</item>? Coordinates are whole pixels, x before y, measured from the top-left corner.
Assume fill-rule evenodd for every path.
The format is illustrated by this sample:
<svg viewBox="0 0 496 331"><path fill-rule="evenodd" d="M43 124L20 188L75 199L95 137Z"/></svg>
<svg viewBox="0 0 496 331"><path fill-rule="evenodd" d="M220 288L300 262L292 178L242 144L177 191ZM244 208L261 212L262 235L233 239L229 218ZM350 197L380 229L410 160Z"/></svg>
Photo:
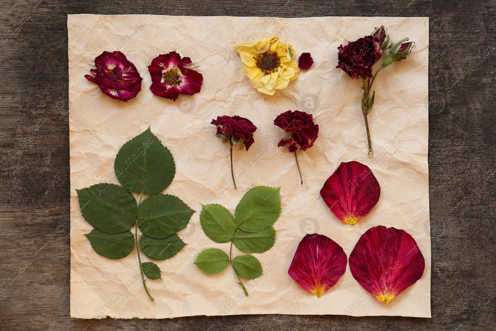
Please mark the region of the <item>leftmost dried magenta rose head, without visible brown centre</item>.
<svg viewBox="0 0 496 331"><path fill-rule="evenodd" d="M97 83L112 99L128 101L141 91L143 78L121 52L103 52L95 58L95 66L96 69L91 69L90 75L84 75L84 78Z"/></svg>

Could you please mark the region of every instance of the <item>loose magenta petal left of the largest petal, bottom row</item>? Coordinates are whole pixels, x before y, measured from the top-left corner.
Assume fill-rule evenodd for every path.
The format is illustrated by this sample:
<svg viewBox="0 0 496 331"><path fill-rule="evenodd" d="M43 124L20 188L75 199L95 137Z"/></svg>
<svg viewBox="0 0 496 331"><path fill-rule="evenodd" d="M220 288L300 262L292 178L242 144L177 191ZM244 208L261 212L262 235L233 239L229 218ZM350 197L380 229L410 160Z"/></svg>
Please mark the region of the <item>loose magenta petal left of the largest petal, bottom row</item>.
<svg viewBox="0 0 496 331"><path fill-rule="evenodd" d="M307 234L296 249L288 274L310 293L321 297L346 270L347 257L334 240Z"/></svg>

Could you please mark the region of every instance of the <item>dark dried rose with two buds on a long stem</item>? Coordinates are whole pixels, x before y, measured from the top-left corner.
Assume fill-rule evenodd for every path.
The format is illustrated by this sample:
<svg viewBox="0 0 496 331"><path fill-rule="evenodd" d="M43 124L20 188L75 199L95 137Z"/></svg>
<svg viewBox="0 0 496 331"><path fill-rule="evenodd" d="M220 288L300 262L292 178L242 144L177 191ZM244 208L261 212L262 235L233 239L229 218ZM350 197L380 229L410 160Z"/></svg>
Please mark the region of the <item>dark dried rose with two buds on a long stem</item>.
<svg viewBox="0 0 496 331"><path fill-rule="evenodd" d="M408 38L404 38L396 44L391 43L389 47L387 46L388 43L389 35L382 25L380 28L375 28L372 36L365 36L354 42L349 42L344 47L343 45L338 47L338 65L336 68L341 68L351 78L362 79L362 88L364 90L362 113L364 114L365 127L367 129L370 157L372 157L372 142L367 115L372 110L375 98L375 91L372 92L372 84L381 69L387 67L392 62L406 59L415 47L415 43L408 42ZM372 66L380 59L383 51L386 49L389 51L389 56L382 62L377 71L372 74Z"/></svg>

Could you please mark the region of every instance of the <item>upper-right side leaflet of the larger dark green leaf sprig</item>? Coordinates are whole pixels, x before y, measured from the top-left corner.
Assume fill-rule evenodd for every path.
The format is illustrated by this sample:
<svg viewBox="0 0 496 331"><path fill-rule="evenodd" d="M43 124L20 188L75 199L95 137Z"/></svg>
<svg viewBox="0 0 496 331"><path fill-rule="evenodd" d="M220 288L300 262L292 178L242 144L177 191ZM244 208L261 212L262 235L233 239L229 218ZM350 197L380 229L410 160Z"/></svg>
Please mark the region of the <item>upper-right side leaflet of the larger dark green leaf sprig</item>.
<svg viewBox="0 0 496 331"><path fill-rule="evenodd" d="M185 228L193 213L194 210L174 195L152 195L139 205L139 229L148 237L167 238Z"/></svg>

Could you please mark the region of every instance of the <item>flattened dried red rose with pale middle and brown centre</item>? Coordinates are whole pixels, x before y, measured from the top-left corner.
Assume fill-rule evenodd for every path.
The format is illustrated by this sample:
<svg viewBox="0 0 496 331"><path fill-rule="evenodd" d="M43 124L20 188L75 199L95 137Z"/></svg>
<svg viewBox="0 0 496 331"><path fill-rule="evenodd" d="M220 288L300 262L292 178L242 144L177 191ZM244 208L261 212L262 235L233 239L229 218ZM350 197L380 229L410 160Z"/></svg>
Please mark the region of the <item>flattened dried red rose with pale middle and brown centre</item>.
<svg viewBox="0 0 496 331"><path fill-rule="evenodd" d="M176 101L179 94L193 95L200 92L203 76L196 70L188 68L189 57L181 58L176 52L158 55L148 66L154 95Z"/></svg>

